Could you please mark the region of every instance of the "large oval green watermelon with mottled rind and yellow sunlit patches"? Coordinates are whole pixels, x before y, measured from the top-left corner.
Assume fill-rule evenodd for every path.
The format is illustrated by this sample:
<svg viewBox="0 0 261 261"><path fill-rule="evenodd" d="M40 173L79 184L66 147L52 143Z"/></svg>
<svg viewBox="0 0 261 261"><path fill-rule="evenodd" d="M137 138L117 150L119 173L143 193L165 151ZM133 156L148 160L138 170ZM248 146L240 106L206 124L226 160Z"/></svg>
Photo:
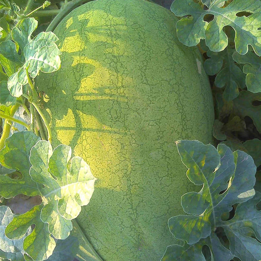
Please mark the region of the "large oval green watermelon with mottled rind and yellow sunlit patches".
<svg viewBox="0 0 261 261"><path fill-rule="evenodd" d="M195 189L175 141L211 142L210 85L174 15L142 0L98 0L55 29L62 66L36 84L50 100L54 145L90 164L98 181L77 218L105 261L156 261L172 244L168 219Z"/></svg>

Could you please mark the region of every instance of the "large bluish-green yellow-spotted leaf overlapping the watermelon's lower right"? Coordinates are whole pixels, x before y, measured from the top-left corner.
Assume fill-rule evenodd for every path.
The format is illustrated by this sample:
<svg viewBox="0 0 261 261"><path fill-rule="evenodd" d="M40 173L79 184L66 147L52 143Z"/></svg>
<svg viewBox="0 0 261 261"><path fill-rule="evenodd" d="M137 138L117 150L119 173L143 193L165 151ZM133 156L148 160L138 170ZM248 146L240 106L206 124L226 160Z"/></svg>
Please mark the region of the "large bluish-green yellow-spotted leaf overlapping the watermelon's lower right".
<svg viewBox="0 0 261 261"><path fill-rule="evenodd" d="M261 212L255 206L261 194L253 189L256 166L251 156L243 151L233 153L225 144L216 149L196 140L179 140L176 145L188 168L187 177L203 186L200 192L188 192L181 198L189 215L169 219L170 232L185 244L168 246L162 260L205 261L204 245L209 247L211 260L230 261L234 256L242 261L259 260ZM239 204L235 216L228 220L235 204ZM219 228L224 229L229 247L218 238ZM252 259L247 258L250 255Z"/></svg>

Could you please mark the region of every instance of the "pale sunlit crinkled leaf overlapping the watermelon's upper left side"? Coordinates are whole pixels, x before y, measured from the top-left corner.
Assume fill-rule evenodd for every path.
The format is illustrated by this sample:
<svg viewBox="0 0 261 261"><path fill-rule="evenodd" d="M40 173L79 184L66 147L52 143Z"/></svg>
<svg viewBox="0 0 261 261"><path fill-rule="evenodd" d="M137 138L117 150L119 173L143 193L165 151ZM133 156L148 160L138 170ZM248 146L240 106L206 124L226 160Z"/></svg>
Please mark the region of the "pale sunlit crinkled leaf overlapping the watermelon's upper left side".
<svg viewBox="0 0 261 261"><path fill-rule="evenodd" d="M21 66L7 81L10 94L17 98L27 91L26 68L29 75L35 78L40 71L50 73L61 67L60 55L62 53L56 45L58 38L53 32L41 32L31 39L37 24L34 18L23 19L19 28L14 27L11 31L14 42L11 40L1 42L3 57ZM21 55L18 54L16 45L20 47Z"/></svg>

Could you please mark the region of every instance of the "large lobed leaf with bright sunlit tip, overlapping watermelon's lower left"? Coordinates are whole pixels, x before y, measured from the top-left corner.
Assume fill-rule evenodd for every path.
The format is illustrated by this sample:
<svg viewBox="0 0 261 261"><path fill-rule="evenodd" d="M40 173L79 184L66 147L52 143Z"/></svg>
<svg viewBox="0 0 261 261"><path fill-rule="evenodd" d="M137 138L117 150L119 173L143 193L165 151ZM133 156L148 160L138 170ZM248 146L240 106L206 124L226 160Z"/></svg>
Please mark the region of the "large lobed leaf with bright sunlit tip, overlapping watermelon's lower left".
<svg viewBox="0 0 261 261"><path fill-rule="evenodd" d="M10 198L22 193L42 198L40 205L15 216L5 229L9 239L18 240L35 224L23 242L23 249L34 260L49 258L56 246L54 238L69 236L71 220L89 203L94 191L96 178L90 167L80 157L70 160L71 153L66 145L53 150L48 141L39 140L32 132L14 133L1 150L1 164L23 175L22 179L2 175L1 195Z"/></svg>

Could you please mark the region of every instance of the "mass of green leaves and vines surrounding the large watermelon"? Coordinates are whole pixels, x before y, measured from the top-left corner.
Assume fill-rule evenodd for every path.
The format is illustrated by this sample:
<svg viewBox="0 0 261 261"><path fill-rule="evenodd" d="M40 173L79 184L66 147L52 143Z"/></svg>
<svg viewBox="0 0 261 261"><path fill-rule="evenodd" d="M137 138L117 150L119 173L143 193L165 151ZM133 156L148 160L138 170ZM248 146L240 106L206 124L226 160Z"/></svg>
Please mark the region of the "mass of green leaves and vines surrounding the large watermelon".
<svg viewBox="0 0 261 261"><path fill-rule="evenodd" d="M79 247L72 220L89 203L96 179L82 158L71 159L69 146L52 148L34 78L60 69L58 38L43 31L53 15L62 17L80 1L38 2L0 3L0 258L71 261ZM188 178L202 188L182 196L187 215L169 219L175 241L162 261L261 260L261 1L175 0L171 11L180 17L181 43L198 45L206 58L216 104L213 135L223 142L217 149L176 142ZM19 108L29 122L18 119ZM13 213L4 203L18 194L39 195L41 203Z"/></svg>

